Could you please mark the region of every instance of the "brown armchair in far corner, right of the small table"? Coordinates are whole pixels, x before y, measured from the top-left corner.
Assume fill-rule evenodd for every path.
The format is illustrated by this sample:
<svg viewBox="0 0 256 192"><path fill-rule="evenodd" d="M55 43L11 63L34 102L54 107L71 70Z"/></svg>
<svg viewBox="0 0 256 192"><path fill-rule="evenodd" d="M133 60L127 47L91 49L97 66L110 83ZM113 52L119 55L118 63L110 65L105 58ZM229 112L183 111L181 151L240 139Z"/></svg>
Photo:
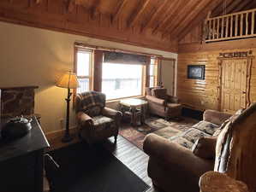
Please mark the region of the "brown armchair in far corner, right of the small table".
<svg viewBox="0 0 256 192"><path fill-rule="evenodd" d="M156 114L164 119L180 117L182 104L176 96L167 95L167 90L162 87L146 88L146 100L149 113Z"/></svg>

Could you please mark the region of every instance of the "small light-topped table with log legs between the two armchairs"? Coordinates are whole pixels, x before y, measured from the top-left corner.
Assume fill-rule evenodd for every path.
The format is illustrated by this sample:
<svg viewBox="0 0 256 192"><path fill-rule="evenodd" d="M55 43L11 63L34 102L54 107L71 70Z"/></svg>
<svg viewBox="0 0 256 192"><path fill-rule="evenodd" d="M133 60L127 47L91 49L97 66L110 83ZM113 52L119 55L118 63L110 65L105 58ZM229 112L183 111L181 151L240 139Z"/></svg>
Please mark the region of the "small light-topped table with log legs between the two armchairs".
<svg viewBox="0 0 256 192"><path fill-rule="evenodd" d="M136 122L136 109L140 108L140 122L141 125L145 123L145 108L147 102L142 99L138 98L130 98L130 99L123 99L120 101L121 106L125 106L130 108L132 116L131 116L131 125L137 126Z"/></svg>

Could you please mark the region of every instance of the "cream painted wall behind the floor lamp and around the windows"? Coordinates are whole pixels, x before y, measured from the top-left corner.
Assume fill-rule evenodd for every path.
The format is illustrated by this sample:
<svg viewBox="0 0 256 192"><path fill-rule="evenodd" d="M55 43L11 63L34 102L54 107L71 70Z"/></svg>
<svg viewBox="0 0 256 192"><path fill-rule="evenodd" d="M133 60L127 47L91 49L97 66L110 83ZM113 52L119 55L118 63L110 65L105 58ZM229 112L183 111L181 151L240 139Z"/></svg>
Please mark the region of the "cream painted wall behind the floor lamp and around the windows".
<svg viewBox="0 0 256 192"><path fill-rule="evenodd" d="M45 132L60 130L60 119L65 119L67 90L56 87L55 82L73 69L74 42L177 58L166 51L0 22L0 87L39 85L35 113L42 115ZM70 118L74 126L72 109Z"/></svg>

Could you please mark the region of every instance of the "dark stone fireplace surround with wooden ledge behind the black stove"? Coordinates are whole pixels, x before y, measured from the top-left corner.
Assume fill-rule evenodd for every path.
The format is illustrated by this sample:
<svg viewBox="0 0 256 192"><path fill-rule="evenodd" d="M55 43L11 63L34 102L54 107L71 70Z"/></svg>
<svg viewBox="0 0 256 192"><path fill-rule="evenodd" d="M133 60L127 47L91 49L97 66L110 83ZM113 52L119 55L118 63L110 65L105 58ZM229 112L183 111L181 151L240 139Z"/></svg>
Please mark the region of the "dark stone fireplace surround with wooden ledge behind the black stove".
<svg viewBox="0 0 256 192"><path fill-rule="evenodd" d="M34 113L34 90L38 86L3 87L1 90L1 116L15 117Z"/></svg>

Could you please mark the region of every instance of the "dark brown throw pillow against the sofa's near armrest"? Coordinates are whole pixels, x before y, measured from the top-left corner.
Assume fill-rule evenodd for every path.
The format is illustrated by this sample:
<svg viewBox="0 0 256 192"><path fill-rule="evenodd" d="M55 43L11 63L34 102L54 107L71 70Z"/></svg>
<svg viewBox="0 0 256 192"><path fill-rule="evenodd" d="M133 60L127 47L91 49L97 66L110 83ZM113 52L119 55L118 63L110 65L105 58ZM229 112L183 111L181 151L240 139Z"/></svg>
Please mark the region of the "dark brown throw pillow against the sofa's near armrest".
<svg viewBox="0 0 256 192"><path fill-rule="evenodd" d="M213 160L216 143L217 137L201 137L193 144L192 152L200 158Z"/></svg>

